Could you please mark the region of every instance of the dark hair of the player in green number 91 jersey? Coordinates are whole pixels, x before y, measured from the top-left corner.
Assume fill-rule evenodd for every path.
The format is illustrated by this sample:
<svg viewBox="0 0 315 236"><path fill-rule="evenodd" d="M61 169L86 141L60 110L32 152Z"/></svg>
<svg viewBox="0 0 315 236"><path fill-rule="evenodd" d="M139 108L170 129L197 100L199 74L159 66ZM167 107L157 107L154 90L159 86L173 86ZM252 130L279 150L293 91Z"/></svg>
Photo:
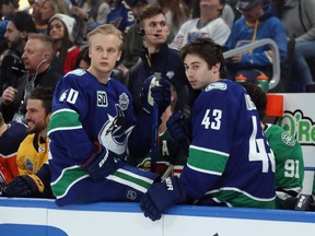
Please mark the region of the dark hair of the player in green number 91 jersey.
<svg viewBox="0 0 315 236"><path fill-rule="evenodd" d="M266 93L255 83L241 83L245 90L247 91L248 95L252 97L253 103L255 104L260 120L266 117L266 109L267 109L267 96Z"/></svg>

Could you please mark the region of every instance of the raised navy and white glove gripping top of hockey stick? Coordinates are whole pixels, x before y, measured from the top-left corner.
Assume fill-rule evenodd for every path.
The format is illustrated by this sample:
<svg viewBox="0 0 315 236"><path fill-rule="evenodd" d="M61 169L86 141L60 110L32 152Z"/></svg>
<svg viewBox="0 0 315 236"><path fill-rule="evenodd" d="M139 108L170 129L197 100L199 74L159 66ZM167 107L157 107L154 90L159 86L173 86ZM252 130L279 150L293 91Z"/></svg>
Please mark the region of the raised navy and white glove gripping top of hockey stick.
<svg viewBox="0 0 315 236"><path fill-rule="evenodd" d="M158 80L155 75L149 76L144 81L140 97L142 107L147 113L153 113L153 103L155 103L159 113L163 114L171 104L170 80L164 78Z"/></svg>

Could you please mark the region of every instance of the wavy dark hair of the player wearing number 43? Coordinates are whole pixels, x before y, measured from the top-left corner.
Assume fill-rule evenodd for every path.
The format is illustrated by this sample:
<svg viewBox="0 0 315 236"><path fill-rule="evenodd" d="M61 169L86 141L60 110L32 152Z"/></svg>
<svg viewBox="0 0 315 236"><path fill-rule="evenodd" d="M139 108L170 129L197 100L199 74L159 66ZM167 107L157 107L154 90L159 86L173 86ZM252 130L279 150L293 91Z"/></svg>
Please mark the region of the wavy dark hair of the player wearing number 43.
<svg viewBox="0 0 315 236"><path fill-rule="evenodd" d="M184 60L188 54L198 55L206 60L209 69L217 63L221 63L220 76L224 78L224 57L222 47L213 42L211 38L197 38L195 42L186 44L182 50L182 59Z"/></svg>

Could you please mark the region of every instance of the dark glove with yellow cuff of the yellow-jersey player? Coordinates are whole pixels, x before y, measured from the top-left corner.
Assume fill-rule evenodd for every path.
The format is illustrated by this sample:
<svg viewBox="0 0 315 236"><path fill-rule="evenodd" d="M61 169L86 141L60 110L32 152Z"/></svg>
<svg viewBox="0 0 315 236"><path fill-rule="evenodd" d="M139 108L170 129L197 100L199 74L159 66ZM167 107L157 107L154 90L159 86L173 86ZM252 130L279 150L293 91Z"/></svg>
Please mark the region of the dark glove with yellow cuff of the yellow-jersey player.
<svg viewBox="0 0 315 236"><path fill-rule="evenodd" d="M44 192L43 181L34 174L15 177L3 188L3 196L30 198Z"/></svg>

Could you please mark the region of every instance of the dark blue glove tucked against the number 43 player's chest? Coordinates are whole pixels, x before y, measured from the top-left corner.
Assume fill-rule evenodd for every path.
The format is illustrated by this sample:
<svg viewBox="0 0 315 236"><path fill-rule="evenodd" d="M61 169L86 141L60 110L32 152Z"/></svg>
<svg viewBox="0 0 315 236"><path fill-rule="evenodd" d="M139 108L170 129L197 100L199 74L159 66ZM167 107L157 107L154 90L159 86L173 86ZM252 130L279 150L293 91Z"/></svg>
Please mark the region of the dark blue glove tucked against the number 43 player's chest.
<svg viewBox="0 0 315 236"><path fill-rule="evenodd" d="M187 143L191 133L190 109L187 107L184 111L174 113L167 120L167 130L177 143Z"/></svg>

